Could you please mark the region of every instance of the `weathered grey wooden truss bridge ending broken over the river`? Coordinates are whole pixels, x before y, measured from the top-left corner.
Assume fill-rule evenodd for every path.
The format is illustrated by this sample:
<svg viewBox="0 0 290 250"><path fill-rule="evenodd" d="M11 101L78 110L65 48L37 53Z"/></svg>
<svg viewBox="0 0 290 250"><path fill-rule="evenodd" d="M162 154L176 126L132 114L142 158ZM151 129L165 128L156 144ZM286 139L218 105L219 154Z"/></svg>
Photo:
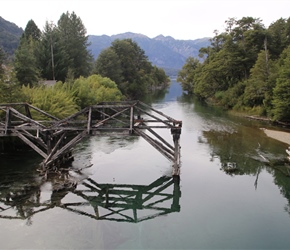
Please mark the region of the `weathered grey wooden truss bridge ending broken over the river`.
<svg viewBox="0 0 290 250"><path fill-rule="evenodd" d="M178 176L181 127L181 121L140 101L102 102L65 119L27 103L0 104L0 138L21 139L43 157L43 168L72 160L73 147L88 135L118 132L143 137L172 163ZM171 143L156 129L169 129Z"/></svg>

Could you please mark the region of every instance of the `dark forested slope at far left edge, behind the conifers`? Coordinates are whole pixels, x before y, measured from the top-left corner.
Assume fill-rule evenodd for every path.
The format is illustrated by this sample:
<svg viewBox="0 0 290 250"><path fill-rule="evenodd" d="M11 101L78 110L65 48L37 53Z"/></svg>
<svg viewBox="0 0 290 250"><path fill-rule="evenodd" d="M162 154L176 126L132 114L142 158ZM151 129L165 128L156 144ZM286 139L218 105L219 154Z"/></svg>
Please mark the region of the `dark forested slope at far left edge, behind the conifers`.
<svg viewBox="0 0 290 250"><path fill-rule="evenodd" d="M6 21L0 16L0 47L12 56L18 47L23 30L16 24Z"/></svg>

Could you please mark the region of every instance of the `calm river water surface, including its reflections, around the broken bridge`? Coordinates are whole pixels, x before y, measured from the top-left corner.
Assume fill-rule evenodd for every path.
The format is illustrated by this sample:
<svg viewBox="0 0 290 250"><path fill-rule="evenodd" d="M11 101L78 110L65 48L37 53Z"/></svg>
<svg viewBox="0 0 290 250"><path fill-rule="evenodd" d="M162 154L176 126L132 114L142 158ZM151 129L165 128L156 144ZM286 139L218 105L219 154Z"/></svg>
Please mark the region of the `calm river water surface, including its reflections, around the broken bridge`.
<svg viewBox="0 0 290 250"><path fill-rule="evenodd" d="M151 101L183 122L180 182L139 137L90 137L69 172L46 177L33 152L1 155L0 248L289 249L288 145L260 129L270 125L200 104L175 81Z"/></svg>

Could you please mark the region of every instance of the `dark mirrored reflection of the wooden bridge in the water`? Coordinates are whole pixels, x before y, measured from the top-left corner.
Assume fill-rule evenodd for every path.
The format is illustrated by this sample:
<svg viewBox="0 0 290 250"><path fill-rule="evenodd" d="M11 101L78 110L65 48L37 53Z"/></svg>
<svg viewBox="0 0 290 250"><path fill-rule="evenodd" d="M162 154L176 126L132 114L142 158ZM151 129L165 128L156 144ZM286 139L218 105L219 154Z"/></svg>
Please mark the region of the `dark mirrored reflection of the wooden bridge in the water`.
<svg viewBox="0 0 290 250"><path fill-rule="evenodd" d="M47 183L50 199L42 201L41 187ZM65 202L68 194L77 202ZM179 212L180 197L179 176L162 176L149 185L100 184L91 178L78 184L66 171L17 188L1 185L0 218L23 219L29 225L35 214L58 207L96 220L138 223Z"/></svg>

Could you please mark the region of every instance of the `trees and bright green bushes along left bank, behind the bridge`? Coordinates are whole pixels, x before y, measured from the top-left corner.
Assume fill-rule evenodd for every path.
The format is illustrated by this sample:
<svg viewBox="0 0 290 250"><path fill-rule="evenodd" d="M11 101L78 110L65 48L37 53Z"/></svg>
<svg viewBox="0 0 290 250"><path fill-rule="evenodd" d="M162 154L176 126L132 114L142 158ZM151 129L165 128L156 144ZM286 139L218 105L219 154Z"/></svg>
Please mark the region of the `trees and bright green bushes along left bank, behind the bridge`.
<svg viewBox="0 0 290 250"><path fill-rule="evenodd" d="M74 12L63 13L57 25L46 22L43 31L30 20L12 63L0 48L0 103L28 102L63 117L101 101L137 99L169 82L131 39L115 40L96 61L87 47Z"/></svg>

